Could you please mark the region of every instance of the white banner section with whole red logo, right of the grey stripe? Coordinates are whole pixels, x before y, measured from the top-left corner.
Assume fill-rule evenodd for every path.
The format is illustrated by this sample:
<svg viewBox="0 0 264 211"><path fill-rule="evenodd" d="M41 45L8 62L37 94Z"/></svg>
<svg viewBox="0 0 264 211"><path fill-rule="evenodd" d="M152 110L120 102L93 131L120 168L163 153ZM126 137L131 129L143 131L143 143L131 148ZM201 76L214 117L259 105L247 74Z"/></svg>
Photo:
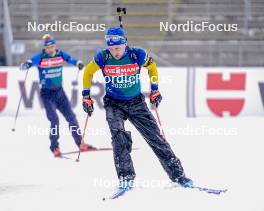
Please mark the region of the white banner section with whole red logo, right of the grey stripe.
<svg viewBox="0 0 264 211"><path fill-rule="evenodd" d="M263 115L263 68L196 68L196 116Z"/></svg>

